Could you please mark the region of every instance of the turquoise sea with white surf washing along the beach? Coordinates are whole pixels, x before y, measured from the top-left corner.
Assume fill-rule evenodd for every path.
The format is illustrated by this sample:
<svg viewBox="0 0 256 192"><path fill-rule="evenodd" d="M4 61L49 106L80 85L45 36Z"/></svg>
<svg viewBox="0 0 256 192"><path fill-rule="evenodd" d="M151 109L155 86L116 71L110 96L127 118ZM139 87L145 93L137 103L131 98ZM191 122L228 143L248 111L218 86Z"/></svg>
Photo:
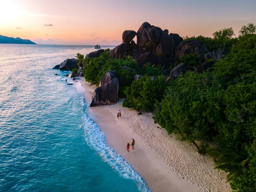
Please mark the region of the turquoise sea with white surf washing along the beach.
<svg viewBox="0 0 256 192"><path fill-rule="evenodd" d="M66 84L69 72L51 69L90 51L0 44L0 191L149 191L105 143L88 103Z"/></svg>

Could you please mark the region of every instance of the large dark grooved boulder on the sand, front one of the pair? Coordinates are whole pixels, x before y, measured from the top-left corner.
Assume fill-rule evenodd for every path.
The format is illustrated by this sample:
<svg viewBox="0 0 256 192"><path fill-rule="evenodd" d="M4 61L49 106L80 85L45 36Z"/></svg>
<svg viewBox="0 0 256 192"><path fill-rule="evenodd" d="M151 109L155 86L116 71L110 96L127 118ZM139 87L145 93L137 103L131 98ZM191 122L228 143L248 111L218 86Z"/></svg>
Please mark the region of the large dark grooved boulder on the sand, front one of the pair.
<svg viewBox="0 0 256 192"><path fill-rule="evenodd" d="M90 106L116 104L118 102L118 90L119 84L116 78L96 88Z"/></svg>

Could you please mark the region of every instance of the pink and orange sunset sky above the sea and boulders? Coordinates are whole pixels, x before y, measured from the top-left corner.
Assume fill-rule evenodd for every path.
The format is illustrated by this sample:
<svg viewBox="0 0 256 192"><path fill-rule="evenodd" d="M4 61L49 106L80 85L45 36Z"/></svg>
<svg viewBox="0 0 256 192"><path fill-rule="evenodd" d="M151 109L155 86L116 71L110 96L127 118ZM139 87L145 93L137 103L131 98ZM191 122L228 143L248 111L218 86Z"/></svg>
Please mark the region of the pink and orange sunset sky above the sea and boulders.
<svg viewBox="0 0 256 192"><path fill-rule="evenodd" d="M0 0L0 35L37 44L118 45L145 21L181 37L256 25L256 0ZM136 38L135 38L136 40Z"/></svg>

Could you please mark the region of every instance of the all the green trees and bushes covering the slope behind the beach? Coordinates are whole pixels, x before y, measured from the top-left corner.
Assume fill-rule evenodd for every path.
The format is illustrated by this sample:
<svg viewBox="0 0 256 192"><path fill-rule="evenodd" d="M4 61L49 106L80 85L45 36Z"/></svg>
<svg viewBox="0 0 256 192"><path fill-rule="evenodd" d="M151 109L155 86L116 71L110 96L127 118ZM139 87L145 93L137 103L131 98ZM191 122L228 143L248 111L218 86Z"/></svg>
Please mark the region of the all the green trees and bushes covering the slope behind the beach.
<svg viewBox="0 0 256 192"><path fill-rule="evenodd" d="M138 67L131 57L113 59L106 50L99 58L83 58L87 81L99 84L113 70L119 80L123 106L154 112L154 122L180 140L193 143L198 153L209 154L215 168L228 172L227 182L239 192L256 191L256 27L242 26L239 37L232 28L198 36L209 52L229 50L211 70L202 74L186 71L173 81L161 76L163 68ZM79 54L80 55L80 54ZM79 59L79 55L77 58ZM178 61L197 67L197 55L183 55ZM178 64L177 63L177 64ZM123 67L127 66L123 70ZM134 75L143 75L133 81ZM154 80L150 78L154 76ZM212 146L214 144L214 147Z"/></svg>

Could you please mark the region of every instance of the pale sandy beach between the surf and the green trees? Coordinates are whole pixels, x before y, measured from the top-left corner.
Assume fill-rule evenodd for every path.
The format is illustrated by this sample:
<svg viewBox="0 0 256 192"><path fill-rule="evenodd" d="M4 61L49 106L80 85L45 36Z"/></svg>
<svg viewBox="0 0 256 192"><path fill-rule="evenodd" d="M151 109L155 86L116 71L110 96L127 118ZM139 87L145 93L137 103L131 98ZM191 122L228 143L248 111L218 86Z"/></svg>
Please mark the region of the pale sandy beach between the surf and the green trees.
<svg viewBox="0 0 256 192"><path fill-rule="evenodd" d="M87 102L95 86L84 79L73 82ZM207 155L196 152L194 145L168 135L164 128L154 124L152 113L116 105L89 108L89 116L104 132L108 145L120 154L138 172L152 192L230 192L226 173L214 169ZM116 113L121 110L122 118ZM126 143L134 138L134 150L126 151Z"/></svg>

